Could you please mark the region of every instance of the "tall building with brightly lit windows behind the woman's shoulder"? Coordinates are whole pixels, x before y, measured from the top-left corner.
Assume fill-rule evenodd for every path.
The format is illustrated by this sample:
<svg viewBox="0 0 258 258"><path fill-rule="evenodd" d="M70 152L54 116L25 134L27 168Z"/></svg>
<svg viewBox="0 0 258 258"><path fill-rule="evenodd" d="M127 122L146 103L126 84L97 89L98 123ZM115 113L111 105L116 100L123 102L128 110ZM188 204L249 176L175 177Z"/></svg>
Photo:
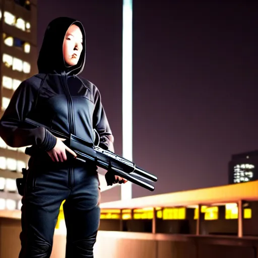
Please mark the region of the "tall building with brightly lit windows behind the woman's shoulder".
<svg viewBox="0 0 258 258"><path fill-rule="evenodd" d="M0 117L20 83L37 73L37 0L0 0ZM20 209L16 178L28 156L0 138L0 210Z"/></svg>

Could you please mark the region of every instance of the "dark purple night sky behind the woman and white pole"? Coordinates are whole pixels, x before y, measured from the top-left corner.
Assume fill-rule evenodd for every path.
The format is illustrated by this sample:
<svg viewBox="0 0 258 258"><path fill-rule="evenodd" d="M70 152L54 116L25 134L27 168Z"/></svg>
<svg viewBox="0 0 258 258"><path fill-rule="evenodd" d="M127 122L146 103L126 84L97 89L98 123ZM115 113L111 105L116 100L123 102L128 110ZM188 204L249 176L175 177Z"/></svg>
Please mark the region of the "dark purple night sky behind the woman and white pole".
<svg viewBox="0 0 258 258"><path fill-rule="evenodd" d="M216 2L134 1L134 161L159 181L133 197L227 184L231 155L258 149L258 5ZM58 16L85 26L83 76L121 154L122 0L38 1L39 46Z"/></svg>

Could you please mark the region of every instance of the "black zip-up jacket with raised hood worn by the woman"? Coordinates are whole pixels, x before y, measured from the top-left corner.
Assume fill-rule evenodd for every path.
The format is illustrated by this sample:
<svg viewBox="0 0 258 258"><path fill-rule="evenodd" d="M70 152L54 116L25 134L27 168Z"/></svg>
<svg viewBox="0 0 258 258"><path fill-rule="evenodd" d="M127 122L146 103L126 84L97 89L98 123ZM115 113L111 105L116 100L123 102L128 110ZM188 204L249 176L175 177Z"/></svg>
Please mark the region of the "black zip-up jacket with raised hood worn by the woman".
<svg viewBox="0 0 258 258"><path fill-rule="evenodd" d="M76 66L67 67L62 53L63 39L71 25L83 34L83 50ZM56 138L45 127L24 123L33 119L55 131L74 134L94 143L94 129L100 147L113 149L113 136L97 87L80 78L86 59L86 35L83 25L60 17L49 23L39 52L39 73L23 81L0 120L0 136L11 147L54 148Z"/></svg>

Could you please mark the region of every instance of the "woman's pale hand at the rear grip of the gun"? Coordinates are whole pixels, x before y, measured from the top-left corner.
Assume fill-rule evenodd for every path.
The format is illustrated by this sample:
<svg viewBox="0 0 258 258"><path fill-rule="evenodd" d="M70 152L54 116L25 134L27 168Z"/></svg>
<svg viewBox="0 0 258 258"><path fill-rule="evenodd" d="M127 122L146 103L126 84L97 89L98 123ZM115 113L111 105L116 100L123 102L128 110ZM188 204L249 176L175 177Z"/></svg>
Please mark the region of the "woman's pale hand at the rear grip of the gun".
<svg viewBox="0 0 258 258"><path fill-rule="evenodd" d="M70 152L73 156L77 157L76 153L63 143L63 141L65 141L66 139L62 139L58 137L56 137L56 139L57 140L54 148L47 152L47 154L50 156L52 161L63 162L67 160L66 151Z"/></svg>

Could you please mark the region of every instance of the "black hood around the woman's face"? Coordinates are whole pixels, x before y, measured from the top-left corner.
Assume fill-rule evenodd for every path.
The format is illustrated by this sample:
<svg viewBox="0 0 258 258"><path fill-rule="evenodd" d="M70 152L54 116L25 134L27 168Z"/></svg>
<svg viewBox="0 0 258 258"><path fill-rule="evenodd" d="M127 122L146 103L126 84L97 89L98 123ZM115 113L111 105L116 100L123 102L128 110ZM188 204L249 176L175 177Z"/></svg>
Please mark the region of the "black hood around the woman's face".
<svg viewBox="0 0 258 258"><path fill-rule="evenodd" d="M62 45L64 36L71 25L77 25L83 34L83 50L78 63L75 66L66 66L63 59ZM43 43L38 56L39 73L61 73L79 75L83 69L86 59L86 35L81 22L68 18L59 17L51 21L45 31Z"/></svg>

